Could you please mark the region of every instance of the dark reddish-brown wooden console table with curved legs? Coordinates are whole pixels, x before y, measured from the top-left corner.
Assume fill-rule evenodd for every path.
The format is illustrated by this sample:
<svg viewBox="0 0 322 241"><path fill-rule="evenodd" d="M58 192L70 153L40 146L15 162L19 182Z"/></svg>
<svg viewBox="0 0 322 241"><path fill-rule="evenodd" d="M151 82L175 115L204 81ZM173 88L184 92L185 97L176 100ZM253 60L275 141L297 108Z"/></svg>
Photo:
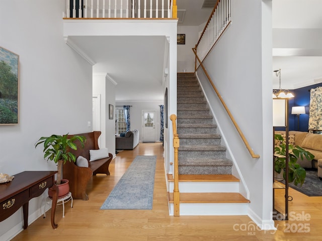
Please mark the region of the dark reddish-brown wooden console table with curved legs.
<svg viewBox="0 0 322 241"><path fill-rule="evenodd" d="M15 178L6 184L0 184L0 221L14 214L23 207L24 229L28 227L29 200L40 196L46 188L53 189L53 201L51 205L51 226L55 224L55 210L57 204L58 188L54 185L57 171L25 171L18 173Z"/></svg>

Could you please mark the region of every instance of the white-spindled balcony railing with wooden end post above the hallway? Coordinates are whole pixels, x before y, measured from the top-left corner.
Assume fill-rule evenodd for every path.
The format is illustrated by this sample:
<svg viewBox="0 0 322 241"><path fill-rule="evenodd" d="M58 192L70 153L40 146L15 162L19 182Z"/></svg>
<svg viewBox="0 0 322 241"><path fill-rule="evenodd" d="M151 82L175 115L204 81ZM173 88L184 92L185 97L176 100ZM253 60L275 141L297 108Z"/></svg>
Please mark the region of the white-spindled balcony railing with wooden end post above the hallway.
<svg viewBox="0 0 322 241"><path fill-rule="evenodd" d="M71 4L70 0L66 0L64 17L67 19L176 19L177 3L176 0L73 0Z"/></svg>

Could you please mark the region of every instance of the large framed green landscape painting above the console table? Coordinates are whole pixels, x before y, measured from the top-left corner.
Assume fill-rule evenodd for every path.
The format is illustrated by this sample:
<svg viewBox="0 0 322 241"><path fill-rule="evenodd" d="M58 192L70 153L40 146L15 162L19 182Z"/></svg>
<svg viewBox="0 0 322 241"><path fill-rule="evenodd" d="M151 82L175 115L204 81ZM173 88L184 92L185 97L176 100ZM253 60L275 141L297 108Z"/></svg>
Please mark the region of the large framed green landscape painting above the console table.
<svg viewBox="0 0 322 241"><path fill-rule="evenodd" d="M0 47L0 125L18 124L19 55Z"/></svg>

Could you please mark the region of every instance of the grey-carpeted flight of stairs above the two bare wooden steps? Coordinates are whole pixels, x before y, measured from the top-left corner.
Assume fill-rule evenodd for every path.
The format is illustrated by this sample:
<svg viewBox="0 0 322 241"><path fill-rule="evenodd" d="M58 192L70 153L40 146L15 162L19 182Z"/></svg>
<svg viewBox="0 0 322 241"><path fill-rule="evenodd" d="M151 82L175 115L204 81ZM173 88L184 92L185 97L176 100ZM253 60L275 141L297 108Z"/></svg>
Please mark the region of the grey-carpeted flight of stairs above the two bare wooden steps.
<svg viewBox="0 0 322 241"><path fill-rule="evenodd" d="M178 73L179 174L231 174L232 161L194 73Z"/></svg>

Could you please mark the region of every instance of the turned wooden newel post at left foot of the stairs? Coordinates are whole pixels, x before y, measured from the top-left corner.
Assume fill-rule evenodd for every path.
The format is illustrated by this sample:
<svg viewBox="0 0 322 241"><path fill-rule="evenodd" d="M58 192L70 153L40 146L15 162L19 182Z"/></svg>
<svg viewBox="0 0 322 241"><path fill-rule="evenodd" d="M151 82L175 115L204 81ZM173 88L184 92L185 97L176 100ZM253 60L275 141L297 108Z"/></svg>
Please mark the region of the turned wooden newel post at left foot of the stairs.
<svg viewBox="0 0 322 241"><path fill-rule="evenodd" d="M176 119L177 115L171 114L170 119L172 121L173 128L173 147L175 149L175 164L174 164L174 216L180 216L180 193L179 193L179 165L178 165L178 149L180 146L179 135L177 133Z"/></svg>

